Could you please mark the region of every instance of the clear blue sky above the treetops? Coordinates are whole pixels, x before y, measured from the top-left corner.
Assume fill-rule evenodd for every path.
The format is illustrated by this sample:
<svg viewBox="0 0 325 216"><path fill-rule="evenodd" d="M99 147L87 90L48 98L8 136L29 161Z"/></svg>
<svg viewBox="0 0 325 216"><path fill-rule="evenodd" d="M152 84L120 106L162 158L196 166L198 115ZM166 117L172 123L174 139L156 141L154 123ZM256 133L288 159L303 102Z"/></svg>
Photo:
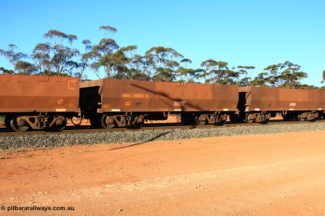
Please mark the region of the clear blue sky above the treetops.
<svg viewBox="0 0 325 216"><path fill-rule="evenodd" d="M325 0L309 1L5 1L0 0L0 48L16 44L31 53L51 30L97 44L100 26L115 27L120 47L136 54L154 46L171 47L200 68L207 59L228 66L255 66L252 78L269 65L290 61L308 74L303 84L322 86L325 70ZM0 57L0 66L13 69ZM96 79L88 72L88 77Z"/></svg>

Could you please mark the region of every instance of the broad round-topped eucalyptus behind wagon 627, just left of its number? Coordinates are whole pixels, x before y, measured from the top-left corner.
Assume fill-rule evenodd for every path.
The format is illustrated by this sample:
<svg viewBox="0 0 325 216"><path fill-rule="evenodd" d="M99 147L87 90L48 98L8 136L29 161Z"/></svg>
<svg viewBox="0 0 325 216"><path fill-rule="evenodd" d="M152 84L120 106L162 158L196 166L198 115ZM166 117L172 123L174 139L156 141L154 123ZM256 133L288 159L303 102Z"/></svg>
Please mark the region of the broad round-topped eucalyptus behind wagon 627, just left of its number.
<svg viewBox="0 0 325 216"><path fill-rule="evenodd" d="M143 58L149 80L171 82L176 79L178 61L184 56L172 48L158 46L146 51Z"/></svg>

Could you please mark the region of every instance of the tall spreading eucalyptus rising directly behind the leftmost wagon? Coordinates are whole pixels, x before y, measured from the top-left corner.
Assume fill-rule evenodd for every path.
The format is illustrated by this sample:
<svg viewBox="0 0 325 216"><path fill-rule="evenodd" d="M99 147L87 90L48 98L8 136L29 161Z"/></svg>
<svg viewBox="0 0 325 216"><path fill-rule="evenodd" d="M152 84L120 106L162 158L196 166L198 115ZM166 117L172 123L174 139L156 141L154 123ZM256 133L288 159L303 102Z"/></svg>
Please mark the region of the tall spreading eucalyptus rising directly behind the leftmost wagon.
<svg viewBox="0 0 325 216"><path fill-rule="evenodd" d="M58 30L49 30L44 34L44 38L49 42L37 44L30 56L38 73L48 76L63 76L74 64L73 57L79 55L79 51L72 48L72 43L78 38L76 35L68 35Z"/></svg>

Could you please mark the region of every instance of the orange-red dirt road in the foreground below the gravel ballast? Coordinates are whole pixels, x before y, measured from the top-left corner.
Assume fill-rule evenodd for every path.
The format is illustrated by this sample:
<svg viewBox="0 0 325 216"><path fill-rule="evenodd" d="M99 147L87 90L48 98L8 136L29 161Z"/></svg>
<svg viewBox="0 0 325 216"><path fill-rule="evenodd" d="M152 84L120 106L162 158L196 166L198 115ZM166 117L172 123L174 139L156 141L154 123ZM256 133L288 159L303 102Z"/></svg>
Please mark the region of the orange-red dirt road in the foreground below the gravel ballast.
<svg viewBox="0 0 325 216"><path fill-rule="evenodd" d="M322 215L324 140L319 131L6 151L0 214Z"/></svg>

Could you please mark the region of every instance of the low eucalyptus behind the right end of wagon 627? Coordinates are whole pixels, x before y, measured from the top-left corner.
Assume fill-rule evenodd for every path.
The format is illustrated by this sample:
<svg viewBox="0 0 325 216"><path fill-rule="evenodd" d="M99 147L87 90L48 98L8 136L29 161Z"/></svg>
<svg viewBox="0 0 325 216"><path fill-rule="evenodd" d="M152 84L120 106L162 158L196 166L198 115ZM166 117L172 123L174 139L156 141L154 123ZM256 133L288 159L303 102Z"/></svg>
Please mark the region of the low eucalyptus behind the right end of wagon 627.
<svg viewBox="0 0 325 216"><path fill-rule="evenodd" d="M201 63L201 67L204 69L198 71L200 74L197 78L204 78L206 84L231 85L239 76L237 72L229 70L227 62L208 59Z"/></svg>

